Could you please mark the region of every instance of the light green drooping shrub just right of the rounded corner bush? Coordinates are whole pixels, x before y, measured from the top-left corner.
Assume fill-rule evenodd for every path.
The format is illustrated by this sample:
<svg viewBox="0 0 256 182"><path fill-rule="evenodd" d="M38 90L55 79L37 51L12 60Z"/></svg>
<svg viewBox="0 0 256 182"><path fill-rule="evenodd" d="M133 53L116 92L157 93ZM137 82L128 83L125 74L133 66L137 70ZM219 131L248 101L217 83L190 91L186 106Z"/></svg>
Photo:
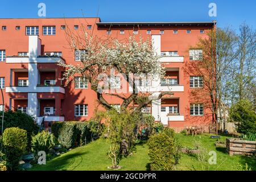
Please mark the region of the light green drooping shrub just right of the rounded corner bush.
<svg viewBox="0 0 256 182"><path fill-rule="evenodd" d="M48 131L41 131L40 133L32 137L32 151L45 151L48 153L49 149L57 144L56 138L53 134Z"/></svg>

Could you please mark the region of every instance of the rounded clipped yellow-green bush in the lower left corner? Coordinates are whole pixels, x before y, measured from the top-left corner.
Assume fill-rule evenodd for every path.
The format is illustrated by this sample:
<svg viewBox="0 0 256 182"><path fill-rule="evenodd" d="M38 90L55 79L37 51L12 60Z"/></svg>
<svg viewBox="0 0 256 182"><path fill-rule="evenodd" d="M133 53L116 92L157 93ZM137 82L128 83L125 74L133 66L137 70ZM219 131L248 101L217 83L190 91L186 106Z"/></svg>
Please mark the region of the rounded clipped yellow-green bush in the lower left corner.
<svg viewBox="0 0 256 182"><path fill-rule="evenodd" d="M6 154L8 170L17 170L19 160L26 152L27 131L18 127L10 127L3 132L3 146Z"/></svg>

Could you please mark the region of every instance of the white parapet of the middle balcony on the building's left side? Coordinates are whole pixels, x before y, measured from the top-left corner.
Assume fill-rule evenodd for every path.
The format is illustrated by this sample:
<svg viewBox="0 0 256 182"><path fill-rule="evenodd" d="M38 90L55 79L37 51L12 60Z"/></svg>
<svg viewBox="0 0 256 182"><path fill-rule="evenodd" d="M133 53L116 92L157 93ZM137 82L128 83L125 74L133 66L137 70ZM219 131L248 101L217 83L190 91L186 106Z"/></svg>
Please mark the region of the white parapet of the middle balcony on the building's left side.
<svg viewBox="0 0 256 182"><path fill-rule="evenodd" d="M6 93L65 93L61 86L7 86Z"/></svg>

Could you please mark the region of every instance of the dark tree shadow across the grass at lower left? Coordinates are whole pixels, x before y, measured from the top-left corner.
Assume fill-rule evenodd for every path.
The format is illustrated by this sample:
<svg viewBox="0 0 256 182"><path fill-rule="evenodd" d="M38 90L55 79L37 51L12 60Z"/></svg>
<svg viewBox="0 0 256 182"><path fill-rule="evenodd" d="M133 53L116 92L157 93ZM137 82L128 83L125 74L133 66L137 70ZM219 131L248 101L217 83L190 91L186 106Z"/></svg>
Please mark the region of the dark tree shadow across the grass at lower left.
<svg viewBox="0 0 256 182"><path fill-rule="evenodd" d="M36 165L32 170L41 170L41 171L66 171L68 167L72 166L71 170L74 170L77 166L82 163L81 155L86 154L87 152L76 152L75 154L63 154L50 160L46 165ZM80 156L80 160L77 160L77 157Z"/></svg>

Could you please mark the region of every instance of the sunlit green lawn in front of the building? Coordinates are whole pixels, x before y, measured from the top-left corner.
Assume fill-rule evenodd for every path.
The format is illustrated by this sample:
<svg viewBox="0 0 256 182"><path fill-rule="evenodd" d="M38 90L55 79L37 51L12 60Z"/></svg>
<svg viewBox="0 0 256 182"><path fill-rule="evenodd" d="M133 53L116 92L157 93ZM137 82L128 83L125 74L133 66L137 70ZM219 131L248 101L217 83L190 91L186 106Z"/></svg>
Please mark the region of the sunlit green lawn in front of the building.
<svg viewBox="0 0 256 182"><path fill-rule="evenodd" d="M196 137L177 134L177 138L183 147L193 147L195 140L201 143L201 146L209 151L216 151L217 164L205 165L200 163L195 155L183 154L180 164L177 165L177 170L237 170L241 164L245 167L245 163L252 170L256 170L256 159L245 156L229 156L225 148L216 148L214 142L216 139L211 139L209 135L197 135ZM225 140L226 137L221 137ZM34 165L31 170L108 170L111 166L111 160L108 158L108 142L104 139L99 139L89 143L86 146L77 147L73 150L49 160L46 165ZM136 146L136 151L127 158L123 158L119 163L122 166L121 170L146 170L149 163L148 147L146 144Z"/></svg>

